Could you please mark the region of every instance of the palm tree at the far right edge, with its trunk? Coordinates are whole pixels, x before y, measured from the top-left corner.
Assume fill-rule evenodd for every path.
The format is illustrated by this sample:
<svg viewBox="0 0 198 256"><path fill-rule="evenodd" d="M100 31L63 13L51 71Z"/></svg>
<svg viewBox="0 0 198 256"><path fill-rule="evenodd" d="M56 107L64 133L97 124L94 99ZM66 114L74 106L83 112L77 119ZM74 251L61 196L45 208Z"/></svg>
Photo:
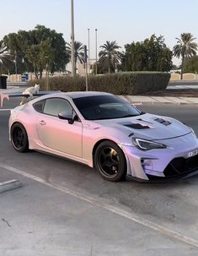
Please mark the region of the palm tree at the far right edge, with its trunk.
<svg viewBox="0 0 198 256"><path fill-rule="evenodd" d="M183 79L183 71L185 67L185 58L196 55L197 44L196 39L191 33L182 33L177 39L177 45L174 46L174 56L181 57L181 79Z"/></svg>

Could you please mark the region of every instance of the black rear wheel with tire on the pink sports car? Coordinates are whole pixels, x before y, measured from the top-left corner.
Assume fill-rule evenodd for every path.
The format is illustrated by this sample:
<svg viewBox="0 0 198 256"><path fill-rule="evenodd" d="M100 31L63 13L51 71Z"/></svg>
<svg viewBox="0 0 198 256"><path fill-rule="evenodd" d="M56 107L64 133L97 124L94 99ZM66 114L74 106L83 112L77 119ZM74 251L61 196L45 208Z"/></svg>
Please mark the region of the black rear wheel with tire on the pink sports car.
<svg viewBox="0 0 198 256"><path fill-rule="evenodd" d="M18 152L27 152L29 150L28 135L21 123L14 123L11 128L11 143L14 150Z"/></svg>

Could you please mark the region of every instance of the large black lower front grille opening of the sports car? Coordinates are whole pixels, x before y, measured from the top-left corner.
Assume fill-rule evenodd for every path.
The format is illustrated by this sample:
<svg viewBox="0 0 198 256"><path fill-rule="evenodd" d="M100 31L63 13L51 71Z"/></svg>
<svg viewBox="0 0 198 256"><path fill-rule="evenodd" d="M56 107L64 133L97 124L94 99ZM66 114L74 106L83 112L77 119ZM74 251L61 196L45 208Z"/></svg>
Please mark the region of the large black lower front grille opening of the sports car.
<svg viewBox="0 0 198 256"><path fill-rule="evenodd" d="M165 177L178 177L198 170L198 155L190 158L177 157L163 171Z"/></svg>

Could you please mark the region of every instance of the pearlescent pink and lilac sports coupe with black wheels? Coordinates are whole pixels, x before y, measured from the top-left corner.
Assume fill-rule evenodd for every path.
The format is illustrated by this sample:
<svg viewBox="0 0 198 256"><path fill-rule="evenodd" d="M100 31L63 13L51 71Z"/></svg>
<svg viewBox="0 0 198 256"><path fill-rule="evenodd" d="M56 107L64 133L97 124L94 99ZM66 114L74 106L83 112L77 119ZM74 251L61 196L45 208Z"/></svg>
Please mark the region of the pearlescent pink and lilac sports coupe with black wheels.
<svg viewBox="0 0 198 256"><path fill-rule="evenodd" d="M40 150L96 167L104 179L153 182L198 170L194 131L171 117L141 112L115 95L42 95L11 112L9 135L19 152Z"/></svg>

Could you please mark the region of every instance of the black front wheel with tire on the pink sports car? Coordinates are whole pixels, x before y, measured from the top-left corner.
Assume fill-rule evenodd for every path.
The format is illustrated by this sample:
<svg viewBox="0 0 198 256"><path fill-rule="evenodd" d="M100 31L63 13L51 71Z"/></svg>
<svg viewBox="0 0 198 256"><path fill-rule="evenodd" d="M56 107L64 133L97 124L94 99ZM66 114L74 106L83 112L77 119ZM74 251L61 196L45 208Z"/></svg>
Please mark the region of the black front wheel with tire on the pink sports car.
<svg viewBox="0 0 198 256"><path fill-rule="evenodd" d="M119 182L126 178L126 157L110 140L105 140L95 150L94 166L107 181Z"/></svg>

